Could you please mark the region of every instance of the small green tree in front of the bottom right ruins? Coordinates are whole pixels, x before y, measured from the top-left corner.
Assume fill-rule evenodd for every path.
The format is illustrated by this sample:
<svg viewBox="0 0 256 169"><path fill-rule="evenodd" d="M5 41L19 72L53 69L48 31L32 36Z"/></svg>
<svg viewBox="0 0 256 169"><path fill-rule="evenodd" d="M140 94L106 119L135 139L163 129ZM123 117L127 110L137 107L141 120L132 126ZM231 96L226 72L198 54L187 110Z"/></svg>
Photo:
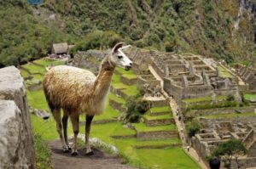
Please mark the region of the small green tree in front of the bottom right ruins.
<svg viewBox="0 0 256 169"><path fill-rule="evenodd" d="M237 168L240 168L238 157L241 155L246 155L247 149L241 143L240 140L231 139L222 144L218 144L217 149L212 152L212 156L222 156L224 160L224 166L228 169L231 168L231 160L235 158Z"/></svg>

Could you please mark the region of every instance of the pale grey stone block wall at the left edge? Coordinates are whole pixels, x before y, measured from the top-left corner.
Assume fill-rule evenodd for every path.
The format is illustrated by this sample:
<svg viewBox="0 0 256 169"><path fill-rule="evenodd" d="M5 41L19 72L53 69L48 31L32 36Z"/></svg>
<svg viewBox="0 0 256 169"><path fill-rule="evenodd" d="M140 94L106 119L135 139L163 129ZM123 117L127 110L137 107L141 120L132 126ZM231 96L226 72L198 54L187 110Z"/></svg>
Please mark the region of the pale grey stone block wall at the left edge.
<svg viewBox="0 0 256 169"><path fill-rule="evenodd" d="M35 168L26 89L15 66L0 70L0 168Z"/></svg>

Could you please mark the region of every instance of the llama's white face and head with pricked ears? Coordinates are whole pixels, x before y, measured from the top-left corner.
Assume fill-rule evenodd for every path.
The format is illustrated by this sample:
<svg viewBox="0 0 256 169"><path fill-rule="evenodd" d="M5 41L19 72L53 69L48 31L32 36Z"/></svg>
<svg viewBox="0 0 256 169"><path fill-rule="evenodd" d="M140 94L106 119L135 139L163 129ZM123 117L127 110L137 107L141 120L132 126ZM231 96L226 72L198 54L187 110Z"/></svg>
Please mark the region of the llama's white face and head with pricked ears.
<svg viewBox="0 0 256 169"><path fill-rule="evenodd" d="M111 54L108 56L108 61L114 66L130 70L132 65L131 59L129 59L122 50L130 48L131 46L124 46L124 44L124 42L119 42L113 47Z"/></svg>

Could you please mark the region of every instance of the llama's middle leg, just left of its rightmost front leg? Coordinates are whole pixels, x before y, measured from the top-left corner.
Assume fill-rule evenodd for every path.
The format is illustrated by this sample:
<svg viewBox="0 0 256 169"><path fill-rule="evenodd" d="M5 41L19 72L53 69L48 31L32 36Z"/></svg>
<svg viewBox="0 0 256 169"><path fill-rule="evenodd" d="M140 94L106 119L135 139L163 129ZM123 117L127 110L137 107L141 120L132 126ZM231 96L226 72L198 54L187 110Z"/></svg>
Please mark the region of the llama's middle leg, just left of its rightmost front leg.
<svg viewBox="0 0 256 169"><path fill-rule="evenodd" d="M79 115L71 116L71 121L73 125L73 150L71 155L78 155Z"/></svg>

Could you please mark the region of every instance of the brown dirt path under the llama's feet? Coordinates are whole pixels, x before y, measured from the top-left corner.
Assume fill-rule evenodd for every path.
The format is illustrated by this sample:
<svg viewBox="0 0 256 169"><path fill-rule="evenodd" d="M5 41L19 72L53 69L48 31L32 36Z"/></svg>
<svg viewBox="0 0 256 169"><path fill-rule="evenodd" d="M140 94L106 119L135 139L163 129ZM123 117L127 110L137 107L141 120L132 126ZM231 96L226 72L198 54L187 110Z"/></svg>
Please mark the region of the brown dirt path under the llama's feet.
<svg viewBox="0 0 256 169"><path fill-rule="evenodd" d="M101 149L92 148L94 155L86 156L84 148L79 149L79 155L62 153L60 140L49 142L54 169L134 169L121 164L117 155L107 155Z"/></svg>

